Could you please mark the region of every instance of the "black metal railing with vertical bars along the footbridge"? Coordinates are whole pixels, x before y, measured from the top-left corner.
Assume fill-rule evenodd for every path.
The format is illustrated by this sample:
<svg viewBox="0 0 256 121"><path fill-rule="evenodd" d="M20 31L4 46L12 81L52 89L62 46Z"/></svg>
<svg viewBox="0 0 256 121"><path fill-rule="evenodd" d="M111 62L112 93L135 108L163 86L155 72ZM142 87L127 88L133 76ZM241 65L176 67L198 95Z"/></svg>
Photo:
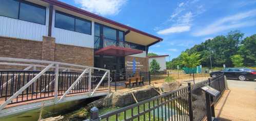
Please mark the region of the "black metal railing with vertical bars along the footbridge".
<svg viewBox="0 0 256 121"><path fill-rule="evenodd" d="M40 73L40 71L0 71L0 100L6 101L15 92L25 86L38 73ZM58 95L63 95L80 75L81 73L78 72L59 72ZM91 91L93 91L97 84L99 84L102 76L103 75L92 74ZM80 82L74 86L69 94L89 92L88 79L88 73L84 74ZM55 84L54 82L55 72L47 71L26 90L24 90L15 99L13 99L10 104L53 97ZM97 88L97 91L99 90L109 90L107 76L104 78L99 88Z"/></svg>

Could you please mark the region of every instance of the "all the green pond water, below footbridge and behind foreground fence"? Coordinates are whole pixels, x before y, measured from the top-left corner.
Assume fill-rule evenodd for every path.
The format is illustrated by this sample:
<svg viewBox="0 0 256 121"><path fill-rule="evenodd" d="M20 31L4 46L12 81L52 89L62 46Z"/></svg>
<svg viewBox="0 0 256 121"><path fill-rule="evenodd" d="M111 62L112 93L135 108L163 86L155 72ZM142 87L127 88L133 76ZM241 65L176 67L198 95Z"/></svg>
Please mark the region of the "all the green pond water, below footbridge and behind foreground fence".
<svg viewBox="0 0 256 121"><path fill-rule="evenodd" d="M158 100L158 103L161 104L161 99ZM71 115L75 114L76 112L84 110L84 107L87 104L88 104L88 101L87 101L87 103L67 102L67 103L56 105L56 106L45 107L44 112L43 112L43 118L63 115L65 117L64 120L85 120L86 118L69 119L69 117ZM144 112L144 110L148 110L149 107L152 109L152 107L154 107L154 106L157 106L157 100L155 100L154 102L147 103L145 105L141 105L139 107L134 107L133 109L129 109L126 111L126 118L130 118L132 116L132 114L136 115L136 114L138 114L138 112L142 113L142 112ZM183 114L182 112L184 112L184 111L180 111L177 107L178 106L176 106L176 104L174 104L173 102L170 102L169 105L165 104L163 106L160 106L159 108L148 111L147 113L145 113L145 115L141 115L139 118L135 118L134 120L144 120L144 117L145 117L145 120L149 120L149 119L150 120L153 120L153 119L154 120L165 120L165 119L168 119L169 117L173 118L173 119L174 118L179 119L182 117L184 119L184 117L186 117L187 115ZM106 114L110 111L118 110L120 108L122 108L122 107L101 108L99 114L100 115ZM187 110L187 109L185 108L184 110ZM0 118L0 120L1 121L2 120L3 121L38 120L39 114L40 114L40 109L36 109L36 110L26 111L26 112L23 112L20 114L10 115L8 117L3 117L3 118ZM87 117L89 117L89 115ZM119 113L117 117L119 120L124 120L124 118L125 118L124 112ZM106 119L102 119L102 120L106 120ZM116 115L110 116L109 120L116 120Z"/></svg>

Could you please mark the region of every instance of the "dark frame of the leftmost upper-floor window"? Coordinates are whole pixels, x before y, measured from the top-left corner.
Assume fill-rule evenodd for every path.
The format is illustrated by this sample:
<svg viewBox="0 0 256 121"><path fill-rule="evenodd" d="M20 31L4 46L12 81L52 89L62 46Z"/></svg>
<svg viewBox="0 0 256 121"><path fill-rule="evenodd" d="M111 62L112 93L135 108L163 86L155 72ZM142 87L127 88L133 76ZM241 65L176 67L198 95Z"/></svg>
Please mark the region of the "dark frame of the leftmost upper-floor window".
<svg viewBox="0 0 256 121"><path fill-rule="evenodd" d="M45 10L45 23L44 24L41 24L41 23L37 23L37 22L30 22L30 23L35 23L35 24L40 24L40 25L46 25L46 8L45 6L41 6L41 5L37 5L37 4L34 4L34 3L31 3L31 2L27 2L27 1L23 1L23 0L13 0L13 1L17 1L18 2L18 17L17 18L14 18L14 17L9 17L9 16L4 16L4 15L0 15L0 16L4 16L4 17L9 17L9 18L13 18L13 19L18 19L20 21L25 21L25 22L30 22L30 21L26 21L26 20L23 20L23 19L20 19L19 18L19 14L20 14L20 11L21 11L21 3L24 3L24 4L27 4L27 5L31 5L31 6L34 6L34 7L37 7L37 8L42 8Z"/></svg>

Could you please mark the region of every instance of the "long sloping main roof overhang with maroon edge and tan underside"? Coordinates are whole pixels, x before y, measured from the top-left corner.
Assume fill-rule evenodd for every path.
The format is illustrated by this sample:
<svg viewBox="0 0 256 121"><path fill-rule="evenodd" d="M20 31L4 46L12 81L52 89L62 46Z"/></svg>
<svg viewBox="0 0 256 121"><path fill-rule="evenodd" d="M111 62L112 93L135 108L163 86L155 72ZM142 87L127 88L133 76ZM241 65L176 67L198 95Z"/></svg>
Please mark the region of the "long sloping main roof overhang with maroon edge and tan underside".
<svg viewBox="0 0 256 121"><path fill-rule="evenodd" d="M27 0L31 1L31 0ZM107 25L116 29L120 29L123 31L130 31L126 36L125 39L127 42L145 45L145 46L151 46L157 42L163 41L163 38L154 36L152 34L134 29L132 27L129 27L127 25L123 25L121 23L112 21L111 19L96 15L94 13L85 11L83 9L68 5L66 3L56 1L56 0L41 0L43 2L52 4L55 6L56 10L61 10L63 12L67 12L69 14L77 15L82 18L89 19L91 21Z"/></svg>

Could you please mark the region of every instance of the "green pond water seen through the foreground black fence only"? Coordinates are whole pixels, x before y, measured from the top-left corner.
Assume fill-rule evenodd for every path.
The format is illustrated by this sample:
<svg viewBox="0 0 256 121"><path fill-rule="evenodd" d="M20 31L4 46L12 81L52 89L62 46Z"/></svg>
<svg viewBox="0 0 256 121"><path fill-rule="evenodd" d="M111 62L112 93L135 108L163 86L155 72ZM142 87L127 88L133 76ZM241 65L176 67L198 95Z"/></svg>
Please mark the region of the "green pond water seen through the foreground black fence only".
<svg viewBox="0 0 256 121"><path fill-rule="evenodd" d="M159 104L160 104L160 100L159 100ZM155 102L150 102L149 104L145 104L145 105L141 105L139 107L134 107L133 109L129 109L126 111L126 119L132 117L133 115L137 115L138 112L143 113L144 110L148 110L149 107L152 109L152 107L157 105L157 101ZM135 118L134 120L166 120L168 118L173 118L173 119L186 119L188 118L186 114L183 114L182 112L184 112L183 109L182 111L179 110L177 108L178 106L176 106L176 104L174 104L173 102L160 106L159 108L156 108L154 110L151 111L146 111L147 113L140 115L139 118ZM185 106L186 107L186 106ZM108 108L102 108L100 109L99 114L106 114L110 111L114 111L117 109L120 109L122 107L108 107ZM119 113L117 115L118 120L124 120L125 118L125 113ZM102 119L102 120L106 120L106 119ZM110 116L109 120L116 120L116 115Z"/></svg>

